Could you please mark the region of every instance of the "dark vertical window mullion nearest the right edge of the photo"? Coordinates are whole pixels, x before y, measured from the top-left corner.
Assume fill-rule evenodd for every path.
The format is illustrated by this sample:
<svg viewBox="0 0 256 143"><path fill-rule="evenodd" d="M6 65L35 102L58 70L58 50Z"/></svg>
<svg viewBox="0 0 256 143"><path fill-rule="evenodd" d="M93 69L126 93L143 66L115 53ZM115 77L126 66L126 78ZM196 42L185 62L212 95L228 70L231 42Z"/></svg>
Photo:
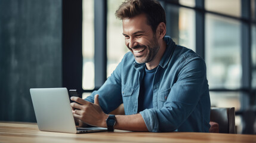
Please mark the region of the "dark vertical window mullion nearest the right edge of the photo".
<svg viewBox="0 0 256 143"><path fill-rule="evenodd" d="M241 57L242 57L242 88L249 89L249 92L242 92L240 96L241 110L243 120L242 133L253 133L254 128L251 126L254 124L250 118L255 117L254 114L248 116L248 108L254 97L251 95L251 78L252 78L252 66L251 66L251 0L241 0L241 17L245 20L241 21Z"/></svg>

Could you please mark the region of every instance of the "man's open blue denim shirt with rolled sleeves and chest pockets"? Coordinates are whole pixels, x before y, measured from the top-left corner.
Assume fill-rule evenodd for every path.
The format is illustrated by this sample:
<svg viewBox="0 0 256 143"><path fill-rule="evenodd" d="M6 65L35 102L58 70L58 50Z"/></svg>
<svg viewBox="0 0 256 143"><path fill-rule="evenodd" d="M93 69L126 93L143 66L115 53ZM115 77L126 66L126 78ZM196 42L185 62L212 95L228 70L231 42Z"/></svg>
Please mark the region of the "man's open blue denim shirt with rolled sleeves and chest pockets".
<svg viewBox="0 0 256 143"><path fill-rule="evenodd" d="M191 49L176 45L169 36L153 79L153 108L140 112L150 132L209 132L211 103L205 61ZM131 52L98 91L105 113L124 103L125 114L137 114L140 81L146 64L136 63Z"/></svg>

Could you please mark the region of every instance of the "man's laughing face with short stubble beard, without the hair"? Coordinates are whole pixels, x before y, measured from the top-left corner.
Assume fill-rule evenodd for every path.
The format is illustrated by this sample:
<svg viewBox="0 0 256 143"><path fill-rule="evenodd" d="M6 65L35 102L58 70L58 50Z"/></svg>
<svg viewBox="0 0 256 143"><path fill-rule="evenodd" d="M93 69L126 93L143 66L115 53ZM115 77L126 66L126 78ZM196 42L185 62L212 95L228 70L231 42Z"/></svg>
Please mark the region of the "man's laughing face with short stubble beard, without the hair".
<svg viewBox="0 0 256 143"><path fill-rule="evenodd" d="M145 14L123 20L125 45L135 57L137 63L150 63L158 53L159 44L152 28L147 24Z"/></svg>

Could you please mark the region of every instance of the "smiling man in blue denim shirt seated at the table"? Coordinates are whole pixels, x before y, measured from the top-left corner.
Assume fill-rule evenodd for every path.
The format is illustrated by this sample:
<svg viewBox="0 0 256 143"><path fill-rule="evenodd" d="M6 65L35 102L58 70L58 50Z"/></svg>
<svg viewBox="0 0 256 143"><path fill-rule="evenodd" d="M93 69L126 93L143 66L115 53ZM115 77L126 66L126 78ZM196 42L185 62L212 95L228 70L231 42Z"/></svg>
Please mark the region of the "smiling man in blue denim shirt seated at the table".
<svg viewBox="0 0 256 143"><path fill-rule="evenodd" d="M98 91L72 97L73 116L88 125L149 132L209 132L205 62L166 34L158 1L127 0L116 11L123 23L124 55ZM109 115L124 103L125 115Z"/></svg>

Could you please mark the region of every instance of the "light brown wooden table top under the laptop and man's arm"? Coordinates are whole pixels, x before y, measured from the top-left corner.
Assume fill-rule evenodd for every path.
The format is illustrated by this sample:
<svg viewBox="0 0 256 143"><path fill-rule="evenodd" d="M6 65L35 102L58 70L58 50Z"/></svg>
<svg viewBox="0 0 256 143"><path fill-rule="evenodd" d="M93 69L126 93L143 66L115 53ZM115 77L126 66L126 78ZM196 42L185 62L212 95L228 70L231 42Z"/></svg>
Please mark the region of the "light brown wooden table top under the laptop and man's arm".
<svg viewBox="0 0 256 143"><path fill-rule="evenodd" d="M36 123L0 122L0 142L256 142L256 135L191 132L42 132Z"/></svg>

